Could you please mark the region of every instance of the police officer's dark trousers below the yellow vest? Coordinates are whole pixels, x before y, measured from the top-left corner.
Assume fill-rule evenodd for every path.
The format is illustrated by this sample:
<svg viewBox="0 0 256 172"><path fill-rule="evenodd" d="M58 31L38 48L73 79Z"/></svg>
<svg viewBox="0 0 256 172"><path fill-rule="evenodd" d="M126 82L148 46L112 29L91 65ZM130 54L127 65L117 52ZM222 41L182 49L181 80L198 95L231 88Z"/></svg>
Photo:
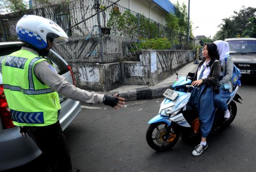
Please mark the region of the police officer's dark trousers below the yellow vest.
<svg viewBox="0 0 256 172"><path fill-rule="evenodd" d="M59 121L45 127L24 127L24 129L42 151L52 172L72 172L66 137Z"/></svg>

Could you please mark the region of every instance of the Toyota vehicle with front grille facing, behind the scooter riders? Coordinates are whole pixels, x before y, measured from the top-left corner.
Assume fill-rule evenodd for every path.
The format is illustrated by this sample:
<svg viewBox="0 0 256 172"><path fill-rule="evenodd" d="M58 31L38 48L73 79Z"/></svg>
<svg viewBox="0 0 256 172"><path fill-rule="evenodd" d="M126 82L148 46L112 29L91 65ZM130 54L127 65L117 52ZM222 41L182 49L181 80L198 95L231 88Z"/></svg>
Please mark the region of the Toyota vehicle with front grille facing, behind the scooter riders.
<svg viewBox="0 0 256 172"><path fill-rule="evenodd" d="M229 54L240 69L242 78L256 77L256 38L229 38Z"/></svg>

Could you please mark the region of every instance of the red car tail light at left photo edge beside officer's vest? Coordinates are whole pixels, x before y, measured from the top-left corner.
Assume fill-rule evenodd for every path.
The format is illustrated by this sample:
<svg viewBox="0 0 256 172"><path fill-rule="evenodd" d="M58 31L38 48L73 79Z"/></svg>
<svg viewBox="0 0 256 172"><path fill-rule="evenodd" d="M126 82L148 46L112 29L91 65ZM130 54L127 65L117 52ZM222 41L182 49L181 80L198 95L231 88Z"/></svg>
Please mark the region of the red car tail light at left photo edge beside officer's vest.
<svg viewBox="0 0 256 172"><path fill-rule="evenodd" d="M0 85L0 117L3 129L15 127L12 123L10 109L5 99L3 85Z"/></svg>

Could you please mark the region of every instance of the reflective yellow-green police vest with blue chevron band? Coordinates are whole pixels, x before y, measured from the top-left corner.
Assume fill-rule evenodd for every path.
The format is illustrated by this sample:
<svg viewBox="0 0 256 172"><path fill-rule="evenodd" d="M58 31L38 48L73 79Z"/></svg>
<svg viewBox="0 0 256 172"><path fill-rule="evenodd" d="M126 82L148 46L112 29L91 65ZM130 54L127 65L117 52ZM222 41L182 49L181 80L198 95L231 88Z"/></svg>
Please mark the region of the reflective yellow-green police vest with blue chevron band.
<svg viewBox="0 0 256 172"><path fill-rule="evenodd" d="M19 50L1 63L4 93L16 126L48 126L58 120L58 93L34 74L34 66L42 61L47 60Z"/></svg>

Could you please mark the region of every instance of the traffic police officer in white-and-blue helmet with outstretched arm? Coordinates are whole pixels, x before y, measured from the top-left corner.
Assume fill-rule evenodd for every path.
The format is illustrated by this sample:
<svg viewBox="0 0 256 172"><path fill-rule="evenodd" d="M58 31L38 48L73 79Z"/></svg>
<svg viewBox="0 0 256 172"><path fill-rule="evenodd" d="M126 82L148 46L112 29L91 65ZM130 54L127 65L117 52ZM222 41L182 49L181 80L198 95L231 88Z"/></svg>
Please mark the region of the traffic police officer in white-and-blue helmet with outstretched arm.
<svg viewBox="0 0 256 172"><path fill-rule="evenodd" d="M42 58L54 44L68 42L68 36L54 21L24 15L16 25L16 32L24 46L1 63L13 124L21 127L22 135L27 133L35 141L53 172L72 172L68 145L58 121L61 109L58 93L115 109L123 107L124 99L76 88L55 71L49 60Z"/></svg>

